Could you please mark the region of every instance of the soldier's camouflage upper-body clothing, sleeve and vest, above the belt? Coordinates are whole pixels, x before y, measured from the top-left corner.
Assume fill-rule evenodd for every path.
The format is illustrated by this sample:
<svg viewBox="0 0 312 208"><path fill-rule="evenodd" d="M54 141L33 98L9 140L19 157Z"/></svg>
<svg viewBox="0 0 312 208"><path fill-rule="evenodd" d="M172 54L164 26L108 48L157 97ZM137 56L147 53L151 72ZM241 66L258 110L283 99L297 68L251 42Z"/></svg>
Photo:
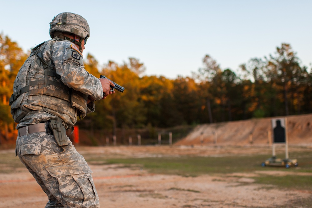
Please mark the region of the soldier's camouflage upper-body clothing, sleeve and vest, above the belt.
<svg viewBox="0 0 312 208"><path fill-rule="evenodd" d="M55 38L41 46L41 50L48 67L43 69L37 56L31 54L28 57L17 74L13 91L17 94L26 85L30 85L30 91L17 97L11 105L11 113L15 122L19 122L17 128L57 116L68 129L77 122L77 116L83 118L87 113L94 112L94 103L90 102L87 106L83 96L90 96L93 100L102 99L102 85L98 78L84 69L82 54L70 41ZM48 76L47 72L56 76ZM46 79L55 84L47 87L37 83ZM36 93L36 90L43 88L44 93Z"/></svg>

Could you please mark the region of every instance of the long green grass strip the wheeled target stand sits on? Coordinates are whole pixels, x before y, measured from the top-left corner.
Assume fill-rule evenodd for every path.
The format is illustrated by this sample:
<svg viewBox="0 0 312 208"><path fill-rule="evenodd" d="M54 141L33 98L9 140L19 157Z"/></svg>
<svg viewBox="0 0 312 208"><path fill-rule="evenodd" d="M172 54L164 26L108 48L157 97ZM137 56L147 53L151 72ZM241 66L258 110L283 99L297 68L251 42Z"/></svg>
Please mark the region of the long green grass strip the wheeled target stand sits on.
<svg viewBox="0 0 312 208"><path fill-rule="evenodd" d="M293 154L296 158L296 154ZM153 157L153 158L113 158L105 159L106 164L138 164L140 167L153 173L175 174L182 176L196 177L202 174L227 174L233 172L254 172L254 171L291 171L312 173L312 152L301 152L297 156L299 167L261 167L270 155L249 155L231 157ZM279 156L278 157L282 157ZM101 160L101 158L87 159L88 162Z"/></svg>

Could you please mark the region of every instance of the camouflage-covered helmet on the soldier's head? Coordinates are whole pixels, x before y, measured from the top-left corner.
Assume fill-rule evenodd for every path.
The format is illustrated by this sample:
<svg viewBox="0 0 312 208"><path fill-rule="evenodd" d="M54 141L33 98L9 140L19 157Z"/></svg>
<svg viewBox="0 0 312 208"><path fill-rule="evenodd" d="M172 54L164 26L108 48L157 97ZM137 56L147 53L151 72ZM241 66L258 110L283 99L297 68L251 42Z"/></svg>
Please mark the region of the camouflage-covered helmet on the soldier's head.
<svg viewBox="0 0 312 208"><path fill-rule="evenodd" d="M73 33L79 37L90 37L90 28L85 18L71 12L56 15L50 22L50 37L55 31Z"/></svg>

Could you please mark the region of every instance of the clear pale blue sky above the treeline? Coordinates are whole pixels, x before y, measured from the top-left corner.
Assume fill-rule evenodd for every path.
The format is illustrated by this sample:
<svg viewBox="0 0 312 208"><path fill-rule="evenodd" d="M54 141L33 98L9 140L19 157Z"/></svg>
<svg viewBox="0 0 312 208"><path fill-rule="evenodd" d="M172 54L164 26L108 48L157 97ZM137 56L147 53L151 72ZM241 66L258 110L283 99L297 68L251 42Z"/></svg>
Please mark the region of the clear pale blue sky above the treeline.
<svg viewBox="0 0 312 208"><path fill-rule="evenodd" d="M24 51L49 40L61 12L88 21L90 53L101 65L134 57L146 75L191 76L208 54L234 72L251 58L289 43L311 69L311 0L86 0L1 2L0 32Z"/></svg>

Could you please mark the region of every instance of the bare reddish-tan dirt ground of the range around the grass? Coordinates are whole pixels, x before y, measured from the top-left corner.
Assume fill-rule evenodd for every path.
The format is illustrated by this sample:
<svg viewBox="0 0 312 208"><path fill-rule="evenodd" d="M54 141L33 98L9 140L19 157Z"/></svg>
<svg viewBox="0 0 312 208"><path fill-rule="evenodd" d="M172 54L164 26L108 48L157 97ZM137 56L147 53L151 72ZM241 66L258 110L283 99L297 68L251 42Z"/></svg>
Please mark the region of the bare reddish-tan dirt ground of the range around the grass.
<svg viewBox="0 0 312 208"><path fill-rule="evenodd" d="M290 151L300 147L292 146ZM312 150L312 145L306 148ZM104 154L113 157L166 157L181 155L226 156L233 154L271 153L268 146L212 147L212 146L120 146L77 147L82 155ZM14 150L2 150L0 153ZM18 160L18 158L16 158ZM202 175L183 177L177 175L151 174L139 167L125 168L121 165L90 164L93 178L105 208L199 208L199 207L286 207L290 200L311 198L309 191L285 191L253 183L250 177L259 174L298 174L291 169L272 172L269 169L252 173L226 175ZM300 168L300 167L298 167ZM311 173L300 173L311 175ZM0 174L1 208L44 207L47 197L26 168L18 168L13 174ZM290 205L287 207L296 207ZM300 206L301 207L301 206Z"/></svg>

